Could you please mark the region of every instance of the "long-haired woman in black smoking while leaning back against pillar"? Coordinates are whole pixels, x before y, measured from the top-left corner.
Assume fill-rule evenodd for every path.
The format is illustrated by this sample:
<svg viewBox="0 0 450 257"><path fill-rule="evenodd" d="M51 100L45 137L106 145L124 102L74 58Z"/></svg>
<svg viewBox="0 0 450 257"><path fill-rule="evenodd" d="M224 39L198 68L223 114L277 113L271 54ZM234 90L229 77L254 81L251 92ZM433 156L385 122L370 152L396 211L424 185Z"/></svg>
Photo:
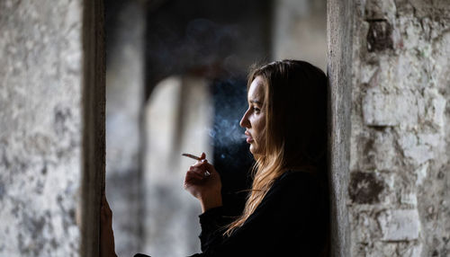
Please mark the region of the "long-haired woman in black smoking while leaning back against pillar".
<svg viewBox="0 0 450 257"><path fill-rule="evenodd" d="M247 101L239 124L256 164L242 215L226 216L219 173L204 154L185 175L184 188L202 205L202 253L193 256L328 256L326 75L297 60L260 66L248 77Z"/></svg>

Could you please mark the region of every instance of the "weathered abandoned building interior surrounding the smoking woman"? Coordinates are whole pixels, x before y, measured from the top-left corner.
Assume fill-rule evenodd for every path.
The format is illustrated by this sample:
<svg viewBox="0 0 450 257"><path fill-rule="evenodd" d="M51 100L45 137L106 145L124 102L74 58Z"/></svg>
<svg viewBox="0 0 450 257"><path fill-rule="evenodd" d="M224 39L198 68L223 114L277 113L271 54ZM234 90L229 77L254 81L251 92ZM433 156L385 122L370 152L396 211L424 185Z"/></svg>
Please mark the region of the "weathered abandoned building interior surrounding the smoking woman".
<svg viewBox="0 0 450 257"><path fill-rule="evenodd" d="M204 152L242 211L249 67L329 77L331 254L450 256L449 0L0 1L0 256L200 253Z"/></svg>

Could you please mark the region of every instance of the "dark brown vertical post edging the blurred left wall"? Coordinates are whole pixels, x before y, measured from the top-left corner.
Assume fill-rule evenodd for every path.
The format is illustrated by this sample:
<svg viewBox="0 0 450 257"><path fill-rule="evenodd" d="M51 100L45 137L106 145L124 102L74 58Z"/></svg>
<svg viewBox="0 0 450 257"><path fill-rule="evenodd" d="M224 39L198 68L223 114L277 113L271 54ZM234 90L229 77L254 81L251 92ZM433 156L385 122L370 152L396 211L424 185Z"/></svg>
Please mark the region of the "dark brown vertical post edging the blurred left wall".
<svg viewBox="0 0 450 257"><path fill-rule="evenodd" d="M103 0L83 1L83 178L80 256L100 255L100 200L105 164Z"/></svg>

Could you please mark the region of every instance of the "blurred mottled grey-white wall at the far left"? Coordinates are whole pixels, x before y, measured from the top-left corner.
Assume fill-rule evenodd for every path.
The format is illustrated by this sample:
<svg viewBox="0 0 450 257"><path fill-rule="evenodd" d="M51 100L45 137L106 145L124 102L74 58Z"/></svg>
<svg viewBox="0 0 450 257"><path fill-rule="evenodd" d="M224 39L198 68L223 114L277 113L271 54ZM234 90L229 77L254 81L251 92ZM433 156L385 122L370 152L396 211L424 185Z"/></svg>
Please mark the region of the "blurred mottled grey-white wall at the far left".
<svg viewBox="0 0 450 257"><path fill-rule="evenodd" d="M0 256L78 256L81 1L0 1Z"/></svg>

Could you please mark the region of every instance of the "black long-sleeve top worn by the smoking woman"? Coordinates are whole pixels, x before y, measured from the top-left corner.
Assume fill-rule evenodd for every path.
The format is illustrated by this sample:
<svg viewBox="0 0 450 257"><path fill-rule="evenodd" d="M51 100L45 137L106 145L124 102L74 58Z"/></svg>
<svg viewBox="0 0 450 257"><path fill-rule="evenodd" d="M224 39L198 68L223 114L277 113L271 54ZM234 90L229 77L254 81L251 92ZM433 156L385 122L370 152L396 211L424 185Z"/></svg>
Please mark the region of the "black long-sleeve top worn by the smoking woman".
<svg viewBox="0 0 450 257"><path fill-rule="evenodd" d="M246 222L223 236L230 221L223 207L200 215L202 253L191 257L328 256L327 185L314 173L284 173Z"/></svg>

